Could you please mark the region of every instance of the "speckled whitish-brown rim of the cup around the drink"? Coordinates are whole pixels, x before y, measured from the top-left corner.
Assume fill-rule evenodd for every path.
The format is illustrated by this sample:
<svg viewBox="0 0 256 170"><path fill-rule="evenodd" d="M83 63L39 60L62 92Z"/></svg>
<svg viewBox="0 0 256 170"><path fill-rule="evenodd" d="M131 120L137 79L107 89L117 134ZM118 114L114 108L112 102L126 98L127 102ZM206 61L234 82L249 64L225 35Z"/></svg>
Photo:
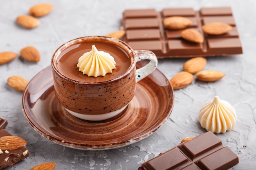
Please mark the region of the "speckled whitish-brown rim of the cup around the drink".
<svg viewBox="0 0 256 170"><path fill-rule="evenodd" d="M103 40L104 42L110 42L112 44L116 44L121 49L123 49L128 54L128 56L130 57L130 60L131 60L131 64L130 64L129 68L127 69L127 71L124 74L119 75L118 77L116 77L114 79L110 79L110 80L103 81L103 82L81 82L81 81L74 80L74 79L71 79L71 78L63 75L63 73L61 73L57 67L56 59L57 59L58 55L60 55L60 53L63 50L65 50L66 48L68 48L69 46L83 42L85 40L89 40L89 39L93 39L93 41ZM123 42L117 38L111 38L111 37L100 36L100 35L91 35L91 36L75 38L75 39L67 41L64 44L62 44L61 46L59 46L58 49L56 49L56 51L54 51L54 53L52 55L51 65L52 65L53 71L55 71L59 76L63 77L64 79L69 80L70 82L74 82L74 83L78 83L78 84L104 84L104 83L115 82L115 81L121 79L122 77L126 77L126 75L130 74L130 72L136 66L135 57L132 57L132 56L135 56L135 52L132 50L132 48L126 42Z"/></svg>

